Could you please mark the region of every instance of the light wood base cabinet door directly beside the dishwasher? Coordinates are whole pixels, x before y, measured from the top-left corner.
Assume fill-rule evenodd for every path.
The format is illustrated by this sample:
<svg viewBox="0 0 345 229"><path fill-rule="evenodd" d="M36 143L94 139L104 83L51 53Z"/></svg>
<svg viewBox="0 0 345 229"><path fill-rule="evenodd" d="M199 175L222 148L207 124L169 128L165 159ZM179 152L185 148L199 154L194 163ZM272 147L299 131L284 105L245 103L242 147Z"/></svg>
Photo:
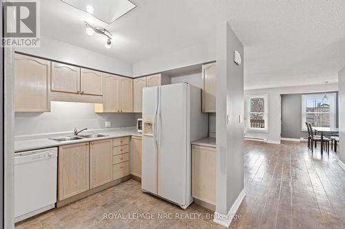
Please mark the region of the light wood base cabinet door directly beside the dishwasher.
<svg viewBox="0 0 345 229"><path fill-rule="evenodd" d="M59 146L58 199L89 189L89 143Z"/></svg>

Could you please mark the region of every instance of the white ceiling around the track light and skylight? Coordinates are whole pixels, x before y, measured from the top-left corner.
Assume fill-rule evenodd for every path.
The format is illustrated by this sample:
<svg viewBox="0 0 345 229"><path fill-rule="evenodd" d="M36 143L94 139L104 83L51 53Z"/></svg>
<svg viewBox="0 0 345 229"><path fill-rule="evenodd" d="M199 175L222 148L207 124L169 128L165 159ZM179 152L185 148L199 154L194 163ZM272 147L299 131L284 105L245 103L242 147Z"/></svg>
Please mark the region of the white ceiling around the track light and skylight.
<svg viewBox="0 0 345 229"><path fill-rule="evenodd" d="M337 82L345 67L345 1L132 0L108 25L60 0L41 1L41 34L129 63L204 41L228 21L245 47L246 89ZM113 34L88 37L83 21ZM67 35L66 35L67 34Z"/></svg>

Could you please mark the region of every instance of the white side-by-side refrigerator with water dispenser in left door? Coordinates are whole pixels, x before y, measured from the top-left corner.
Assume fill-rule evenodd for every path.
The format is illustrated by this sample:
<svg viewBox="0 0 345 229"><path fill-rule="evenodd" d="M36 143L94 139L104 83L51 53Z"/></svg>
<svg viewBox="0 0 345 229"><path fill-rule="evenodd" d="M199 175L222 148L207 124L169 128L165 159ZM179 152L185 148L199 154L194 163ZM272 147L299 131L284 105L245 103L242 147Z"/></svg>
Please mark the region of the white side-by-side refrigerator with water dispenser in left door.
<svg viewBox="0 0 345 229"><path fill-rule="evenodd" d="M207 132L201 89L188 83L144 88L141 188L187 208L193 202L190 142Z"/></svg>

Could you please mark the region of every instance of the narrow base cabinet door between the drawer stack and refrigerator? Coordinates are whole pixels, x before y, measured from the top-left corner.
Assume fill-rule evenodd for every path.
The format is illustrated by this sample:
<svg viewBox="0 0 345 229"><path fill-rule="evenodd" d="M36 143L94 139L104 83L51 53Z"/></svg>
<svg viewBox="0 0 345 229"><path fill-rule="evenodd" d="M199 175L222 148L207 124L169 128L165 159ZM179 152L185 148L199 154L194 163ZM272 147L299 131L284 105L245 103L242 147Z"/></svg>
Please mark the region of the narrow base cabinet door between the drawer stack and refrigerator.
<svg viewBox="0 0 345 229"><path fill-rule="evenodd" d="M132 137L132 150L130 151L130 173L141 177L141 138Z"/></svg>

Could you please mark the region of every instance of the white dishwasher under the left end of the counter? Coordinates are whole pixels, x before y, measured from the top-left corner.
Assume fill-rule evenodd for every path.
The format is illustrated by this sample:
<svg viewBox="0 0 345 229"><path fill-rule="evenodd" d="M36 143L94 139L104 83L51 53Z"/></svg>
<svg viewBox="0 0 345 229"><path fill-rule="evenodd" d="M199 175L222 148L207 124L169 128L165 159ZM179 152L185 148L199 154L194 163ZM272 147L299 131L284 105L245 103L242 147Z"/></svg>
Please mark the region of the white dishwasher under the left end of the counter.
<svg viewBox="0 0 345 229"><path fill-rule="evenodd" d="M57 147L14 153L14 221L55 207Z"/></svg>

